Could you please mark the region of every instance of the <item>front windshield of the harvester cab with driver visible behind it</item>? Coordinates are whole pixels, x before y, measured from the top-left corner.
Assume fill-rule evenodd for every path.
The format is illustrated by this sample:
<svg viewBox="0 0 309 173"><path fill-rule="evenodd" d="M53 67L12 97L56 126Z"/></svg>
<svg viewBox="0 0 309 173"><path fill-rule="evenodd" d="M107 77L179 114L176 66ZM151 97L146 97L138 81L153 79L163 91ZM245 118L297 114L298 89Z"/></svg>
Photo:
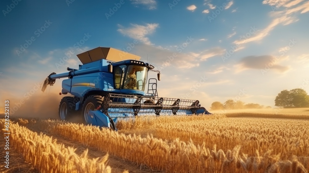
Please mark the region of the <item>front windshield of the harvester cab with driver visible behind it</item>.
<svg viewBox="0 0 309 173"><path fill-rule="evenodd" d="M124 89L145 90L148 69L139 65L129 65L125 76Z"/></svg>

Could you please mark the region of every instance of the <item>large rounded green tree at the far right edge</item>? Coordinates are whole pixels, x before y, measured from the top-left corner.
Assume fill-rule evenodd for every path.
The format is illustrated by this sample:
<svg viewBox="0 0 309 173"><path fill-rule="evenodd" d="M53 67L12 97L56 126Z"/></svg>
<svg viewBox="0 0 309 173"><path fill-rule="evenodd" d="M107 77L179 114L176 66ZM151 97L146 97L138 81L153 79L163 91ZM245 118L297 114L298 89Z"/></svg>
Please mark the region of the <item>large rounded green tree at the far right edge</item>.
<svg viewBox="0 0 309 173"><path fill-rule="evenodd" d="M301 88L282 90L275 99L275 106L303 108L309 106L309 96Z"/></svg>

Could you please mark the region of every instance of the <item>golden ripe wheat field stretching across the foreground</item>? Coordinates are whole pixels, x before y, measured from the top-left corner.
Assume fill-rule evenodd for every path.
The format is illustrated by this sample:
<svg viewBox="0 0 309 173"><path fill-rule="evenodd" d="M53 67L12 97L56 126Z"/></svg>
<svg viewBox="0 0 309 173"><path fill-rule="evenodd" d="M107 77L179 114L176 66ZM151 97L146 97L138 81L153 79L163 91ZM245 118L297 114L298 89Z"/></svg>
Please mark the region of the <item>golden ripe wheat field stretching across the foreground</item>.
<svg viewBox="0 0 309 173"><path fill-rule="evenodd" d="M308 119L307 109L140 116L119 120L115 132L59 120L12 118L10 140L24 164L37 172L307 173ZM85 150L77 154L81 145ZM92 150L106 154L87 156ZM113 157L128 164L118 169Z"/></svg>

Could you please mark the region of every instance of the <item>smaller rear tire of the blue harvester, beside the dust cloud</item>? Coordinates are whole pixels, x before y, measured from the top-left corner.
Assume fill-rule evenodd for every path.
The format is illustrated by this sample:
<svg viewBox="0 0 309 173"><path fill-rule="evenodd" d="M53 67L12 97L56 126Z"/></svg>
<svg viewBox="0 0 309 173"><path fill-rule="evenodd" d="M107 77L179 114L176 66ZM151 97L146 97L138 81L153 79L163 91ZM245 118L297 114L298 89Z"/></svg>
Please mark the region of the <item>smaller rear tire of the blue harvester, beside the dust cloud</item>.
<svg viewBox="0 0 309 173"><path fill-rule="evenodd" d="M61 120L67 120L74 113L75 106L73 108L73 97L63 97L59 105L59 118Z"/></svg>

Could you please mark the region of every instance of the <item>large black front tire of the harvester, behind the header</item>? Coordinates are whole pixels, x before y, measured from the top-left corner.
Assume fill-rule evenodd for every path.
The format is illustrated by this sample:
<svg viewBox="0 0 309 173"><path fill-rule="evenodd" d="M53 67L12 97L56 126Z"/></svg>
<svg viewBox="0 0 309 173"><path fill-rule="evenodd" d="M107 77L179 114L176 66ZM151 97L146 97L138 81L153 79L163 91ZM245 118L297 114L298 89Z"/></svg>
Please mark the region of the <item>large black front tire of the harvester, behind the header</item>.
<svg viewBox="0 0 309 173"><path fill-rule="evenodd" d="M88 121L88 112L98 108L103 103L104 97L101 95L90 95L83 102L82 115L84 116L85 123Z"/></svg>

